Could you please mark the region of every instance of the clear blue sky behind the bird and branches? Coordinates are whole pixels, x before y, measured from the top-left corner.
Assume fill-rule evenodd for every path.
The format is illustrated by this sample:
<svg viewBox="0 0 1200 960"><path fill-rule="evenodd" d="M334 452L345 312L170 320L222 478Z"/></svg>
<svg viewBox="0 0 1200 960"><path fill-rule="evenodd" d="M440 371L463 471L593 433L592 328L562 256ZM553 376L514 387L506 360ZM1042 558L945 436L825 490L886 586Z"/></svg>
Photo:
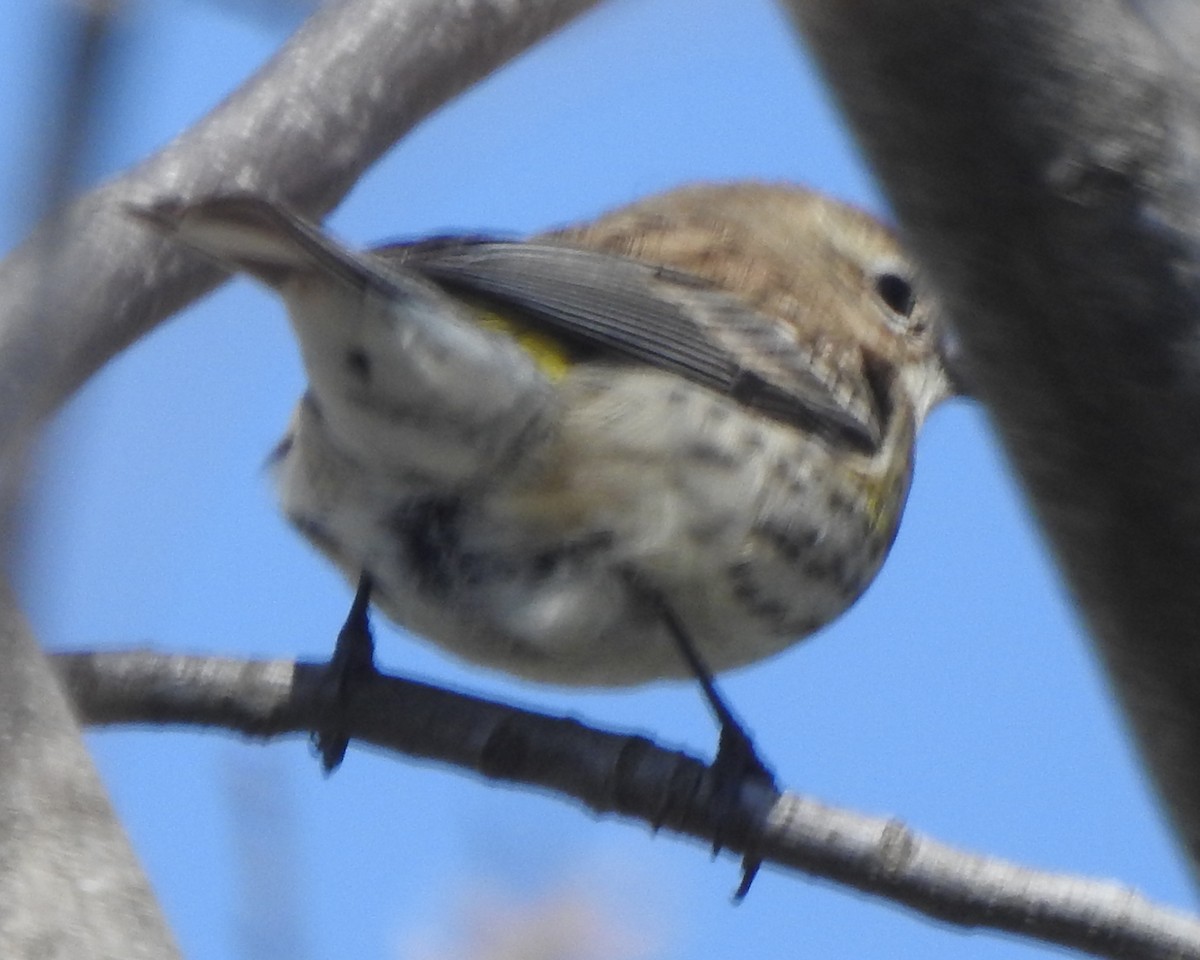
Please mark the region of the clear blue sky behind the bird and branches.
<svg viewBox="0 0 1200 960"><path fill-rule="evenodd" d="M128 5L90 180L166 143L277 47L283 25L234 6ZM5 248L36 212L53 26L49 0L0 7ZM444 108L330 223L361 244L526 232L744 176L883 212L770 2L616 0ZM58 421L37 478L23 595L42 640L328 653L349 589L277 517L262 470L301 386L282 310L245 281L97 377ZM712 750L712 721L686 685L517 684L380 634L390 670ZM985 419L965 402L928 425L900 538L866 596L724 685L790 788L1192 906L1088 641ZM457 958L488 911L600 923L617 960L1061 955L769 869L734 908L736 863L712 863L700 845L359 749L324 780L300 739L150 730L90 743L193 960ZM251 952L247 914L282 918L292 940Z"/></svg>

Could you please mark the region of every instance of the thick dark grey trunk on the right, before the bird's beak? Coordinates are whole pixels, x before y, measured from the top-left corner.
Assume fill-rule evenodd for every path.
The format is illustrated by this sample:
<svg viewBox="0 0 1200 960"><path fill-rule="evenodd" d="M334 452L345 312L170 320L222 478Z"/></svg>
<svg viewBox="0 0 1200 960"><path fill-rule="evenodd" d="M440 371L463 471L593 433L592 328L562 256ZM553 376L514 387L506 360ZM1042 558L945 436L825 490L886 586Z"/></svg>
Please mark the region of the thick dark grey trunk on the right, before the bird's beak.
<svg viewBox="0 0 1200 960"><path fill-rule="evenodd" d="M1200 870L1200 5L788 6Z"/></svg>

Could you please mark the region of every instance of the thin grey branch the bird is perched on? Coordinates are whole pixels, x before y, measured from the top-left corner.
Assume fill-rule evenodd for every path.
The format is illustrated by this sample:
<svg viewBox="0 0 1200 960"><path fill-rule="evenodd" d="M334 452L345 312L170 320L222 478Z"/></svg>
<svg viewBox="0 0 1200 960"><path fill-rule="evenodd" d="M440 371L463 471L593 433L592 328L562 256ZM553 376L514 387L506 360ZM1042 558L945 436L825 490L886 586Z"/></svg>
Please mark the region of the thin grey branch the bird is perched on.
<svg viewBox="0 0 1200 960"><path fill-rule="evenodd" d="M324 665L149 650L53 659L79 715L95 725L185 724L271 738L318 730L335 715ZM1096 956L1200 958L1200 920L1114 884L965 853L894 820L748 787L737 822L720 822L709 768L643 737L384 676L356 686L336 715L338 728L364 743L554 791L652 829L708 844L720 835L732 851L752 848L940 920Z"/></svg>

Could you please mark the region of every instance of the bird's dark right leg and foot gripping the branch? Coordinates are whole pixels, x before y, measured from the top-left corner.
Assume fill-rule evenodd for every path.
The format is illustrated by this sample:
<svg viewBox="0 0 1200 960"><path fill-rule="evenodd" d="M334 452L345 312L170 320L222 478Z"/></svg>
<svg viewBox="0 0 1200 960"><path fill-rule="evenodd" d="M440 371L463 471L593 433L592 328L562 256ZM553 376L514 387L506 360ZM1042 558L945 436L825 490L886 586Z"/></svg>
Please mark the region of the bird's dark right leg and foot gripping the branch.
<svg viewBox="0 0 1200 960"><path fill-rule="evenodd" d="M646 588L643 587L643 589ZM700 652L696 649L696 644L692 643L686 628L674 610L671 608L671 605L656 590L646 589L646 593L658 607L667 632L674 641L679 655L688 664L688 668L700 683L704 700L708 701L708 706L712 708L720 726L720 739L718 740L716 757L713 760L712 768L716 781L713 803L718 823L720 824L720 822L733 816L736 812L743 784L757 781L774 790L775 776L758 757L750 734L746 733L745 727L733 715L733 712L716 689L716 683L713 680L713 672L704 664L703 658L701 658ZM720 852L721 846L721 833L718 832L713 839L713 853ZM750 892L750 884L754 883L760 866L762 866L762 859L754 856L752 852L748 852L742 858L742 882L733 894L734 901L742 900Z"/></svg>

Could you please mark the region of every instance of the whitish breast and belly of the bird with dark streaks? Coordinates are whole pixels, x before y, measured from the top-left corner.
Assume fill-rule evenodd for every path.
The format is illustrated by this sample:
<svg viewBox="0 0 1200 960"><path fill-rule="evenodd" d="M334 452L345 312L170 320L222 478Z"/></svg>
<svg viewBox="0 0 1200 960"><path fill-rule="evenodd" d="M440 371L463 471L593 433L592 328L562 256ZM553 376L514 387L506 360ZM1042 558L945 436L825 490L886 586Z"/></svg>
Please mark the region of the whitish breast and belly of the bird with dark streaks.
<svg viewBox="0 0 1200 960"><path fill-rule="evenodd" d="M688 674L647 588L720 671L812 632L874 577L893 529L821 442L656 371L580 366L559 390L556 438L462 490L338 464L308 422L281 463L284 510L348 577L370 569L400 625L563 684Z"/></svg>

